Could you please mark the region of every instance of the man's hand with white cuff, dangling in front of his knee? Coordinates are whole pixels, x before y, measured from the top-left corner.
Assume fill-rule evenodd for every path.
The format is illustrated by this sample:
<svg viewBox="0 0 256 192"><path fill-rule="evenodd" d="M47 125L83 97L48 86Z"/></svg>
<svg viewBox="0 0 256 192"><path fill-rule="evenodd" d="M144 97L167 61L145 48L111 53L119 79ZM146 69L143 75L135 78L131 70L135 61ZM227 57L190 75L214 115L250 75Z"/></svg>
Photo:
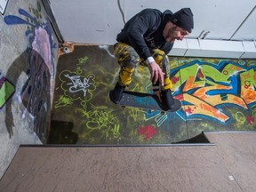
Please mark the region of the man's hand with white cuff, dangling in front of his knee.
<svg viewBox="0 0 256 192"><path fill-rule="evenodd" d="M153 82L153 84L156 84L157 80L159 80L160 84L164 86L164 73L159 65L153 61L148 64L148 68L151 75L150 80Z"/></svg>

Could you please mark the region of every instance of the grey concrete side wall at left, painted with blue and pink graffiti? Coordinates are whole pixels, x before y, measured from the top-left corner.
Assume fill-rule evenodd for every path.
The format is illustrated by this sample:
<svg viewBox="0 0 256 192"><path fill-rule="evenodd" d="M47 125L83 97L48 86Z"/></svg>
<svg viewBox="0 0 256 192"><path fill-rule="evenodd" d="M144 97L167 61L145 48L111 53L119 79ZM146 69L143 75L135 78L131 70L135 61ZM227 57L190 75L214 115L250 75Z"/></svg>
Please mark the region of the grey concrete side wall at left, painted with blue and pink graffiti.
<svg viewBox="0 0 256 192"><path fill-rule="evenodd" d="M41 1L9 1L0 17L0 177L20 144L45 142L58 40Z"/></svg>

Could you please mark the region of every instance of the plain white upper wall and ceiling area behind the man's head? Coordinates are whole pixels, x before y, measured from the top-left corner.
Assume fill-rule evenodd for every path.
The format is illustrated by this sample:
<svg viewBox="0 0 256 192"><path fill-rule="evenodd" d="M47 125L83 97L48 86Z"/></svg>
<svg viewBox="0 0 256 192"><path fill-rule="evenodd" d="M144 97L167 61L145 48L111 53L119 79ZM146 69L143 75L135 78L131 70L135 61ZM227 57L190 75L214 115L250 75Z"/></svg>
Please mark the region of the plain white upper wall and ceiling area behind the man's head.
<svg viewBox="0 0 256 192"><path fill-rule="evenodd" d="M116 35L124 27L124 22L142 9L156 8L160 11L170 9L172 12L177 12L181 8L189 7L194 13L194 30L185 40L186 47L184 49L181 47L183 51L178 50L180 52L177 53L178 55L185 55L184 52L188 50L188 40L191 39L196 41L196 46L199 44L198 50L202 50L199 42L202 39L241 42L243 51L240 52L241 48L238 48L239 55L244 55L244 49L247 49L244 47L244 42L251 42L250 57L253 54L256 58L254 41L256 0L49 0L49 2L65 42L115 44ZM207 41L205 42L208 43ZM179 44L178 46L182 46ZM209 46L212 46L212 43ZM230 44L229 47L232 46ZM220 47L221 44L217 49L221 52Z"/></svg>

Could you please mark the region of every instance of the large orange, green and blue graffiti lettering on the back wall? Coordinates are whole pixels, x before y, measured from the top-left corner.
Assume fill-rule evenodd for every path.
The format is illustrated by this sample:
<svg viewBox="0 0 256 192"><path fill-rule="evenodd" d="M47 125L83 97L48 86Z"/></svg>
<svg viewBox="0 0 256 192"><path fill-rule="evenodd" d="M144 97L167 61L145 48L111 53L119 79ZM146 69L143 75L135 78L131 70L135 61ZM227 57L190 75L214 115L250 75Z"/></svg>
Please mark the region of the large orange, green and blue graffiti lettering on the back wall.
<svg viewBox="0 0 256 192"><path fill-rule="evenodd" d="M252 110L256 105L255 76L255 66L193 60L172 70L172 83L174 95L184 104L184 117L210 117L225 124L232 120L232 114L223 107Z"/></svg>

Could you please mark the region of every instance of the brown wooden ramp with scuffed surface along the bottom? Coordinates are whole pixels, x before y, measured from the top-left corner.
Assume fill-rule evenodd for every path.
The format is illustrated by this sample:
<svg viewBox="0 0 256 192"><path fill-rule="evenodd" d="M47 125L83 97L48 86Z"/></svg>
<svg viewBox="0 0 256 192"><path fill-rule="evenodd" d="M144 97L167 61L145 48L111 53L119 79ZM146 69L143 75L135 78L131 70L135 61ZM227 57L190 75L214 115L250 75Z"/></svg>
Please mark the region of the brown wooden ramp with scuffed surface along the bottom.
<svg viewBox="0 0 256 192"><path fill-rule="evenodd" d="M204 132L212 144L21 146L0 191L256 191L256 133Z"/></svg>

